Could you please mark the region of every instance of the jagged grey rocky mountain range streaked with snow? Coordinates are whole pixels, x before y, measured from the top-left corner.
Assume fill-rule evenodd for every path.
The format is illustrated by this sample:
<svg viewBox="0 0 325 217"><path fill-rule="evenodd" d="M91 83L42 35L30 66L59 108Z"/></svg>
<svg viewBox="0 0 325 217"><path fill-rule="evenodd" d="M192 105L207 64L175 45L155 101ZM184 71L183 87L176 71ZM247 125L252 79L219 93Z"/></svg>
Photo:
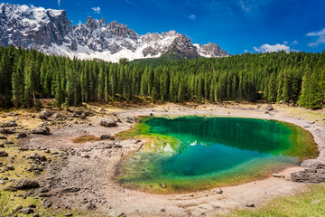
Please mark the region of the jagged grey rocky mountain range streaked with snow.
<svg viewBox="0 0 325 217"><path fill-rule="evenodd" d="M175 31L139 35L125 24L106 24L91 17L86 24L72 25L64 10L4 3L0 5L0 44L113 62L171 55L183 59L229 56L216 43L193 44Z"/></svg>

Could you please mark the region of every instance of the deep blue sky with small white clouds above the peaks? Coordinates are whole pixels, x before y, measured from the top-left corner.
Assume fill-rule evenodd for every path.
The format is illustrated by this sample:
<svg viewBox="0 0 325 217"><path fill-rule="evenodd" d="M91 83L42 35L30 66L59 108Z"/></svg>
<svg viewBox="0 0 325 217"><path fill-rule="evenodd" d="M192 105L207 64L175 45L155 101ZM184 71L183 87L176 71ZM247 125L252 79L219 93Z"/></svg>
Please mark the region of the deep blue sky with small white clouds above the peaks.
<svg viewBox="0 0 325 217"><path fill-rule="evenodd" d="M73 25L88 16L117 21L138 34L175 30L193 43L230 54L325 49L325 0L8 0L66 10Z"/></svg>

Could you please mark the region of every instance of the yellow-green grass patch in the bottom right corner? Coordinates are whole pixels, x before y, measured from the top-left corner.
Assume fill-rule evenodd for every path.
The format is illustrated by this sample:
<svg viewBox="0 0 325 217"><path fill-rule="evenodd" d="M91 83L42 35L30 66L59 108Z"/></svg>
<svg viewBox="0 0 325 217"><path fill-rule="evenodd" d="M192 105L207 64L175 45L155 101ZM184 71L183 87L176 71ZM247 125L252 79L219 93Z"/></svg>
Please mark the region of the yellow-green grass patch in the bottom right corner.
<svg viewBox="0 0 325 217"><path fill-rule="evenodd" d="M325 216L325 184L314 184L306 191L292 196L275 198L265 207L256 210L241 210L220 216Z"/></svg>

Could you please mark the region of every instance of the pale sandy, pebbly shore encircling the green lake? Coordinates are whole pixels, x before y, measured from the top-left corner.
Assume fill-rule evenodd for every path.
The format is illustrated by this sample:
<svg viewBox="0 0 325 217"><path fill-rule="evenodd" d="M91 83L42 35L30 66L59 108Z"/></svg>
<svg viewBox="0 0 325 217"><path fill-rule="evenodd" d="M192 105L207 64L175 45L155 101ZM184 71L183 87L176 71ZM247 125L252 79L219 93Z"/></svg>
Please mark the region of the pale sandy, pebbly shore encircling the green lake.
<svg viewBox="0 0 325 217"><path fill-rule="evenodd" d="M88 105L88 109L94 111L96 115L88 117L86 119L87 124L73 124L71 122L72 127L51 127L51 136L31 136L19 142L18 146L35 149L41 146L42 148L51 149L51 151L58 150L70 153L67 158L58 159L57 166L60 167L60 170L55 175L51 173L42 175L42 179L58 176L62 179L60 183L56 184L56 189L54 188L50 192L53 193L49 199L53 204L53 208L60 209L69 206L72 209L86 209L89 203L83 203L83 201L87 198L88 201L91 200L91 203L96 204L98 214L116 215L124 212L126 216L200 216L205 213L205 215L211 216L237 209L247 209L246 203L254 203L255 207L258 208L277 196L303 191L309 184L290 181L291 173L301 171L302 167L294 166L279 172L284 178L271 177L270 175L269 178L264 180L222 187L223 193L216 193L218 189L177 194L144 193L125 189L112 179L116 172L116 165L123 157L138 150L143 142L137 142L134 138L130 138L114 142L96 141L75 144L72 139L85 134L96 137L104 134L114 136L133 126L135 122L128 123L124 121L127 117L149 116L150 114L153 114L153 116L206 115L264 118L292 123L310 131L320 150L320 156L317 160L325 164L325 123L319 118L325 118L325 115L317 114L315 116L314 111L288 108L281 105L274 105L274 110L268 110L264 107L265 105L262 105L257 109L254 104L234 104L227 106L227 108L215 104L199 105L197 107L165 104L151 108L118 109ZM105 112L100 111L102 109L105 109ZM118 127L99 127L102 118L115 117L112 116L112 112L115 113L116 117L123 120L122 123L117 123ZM316 112L321 113L323 110ZM311 113L311 117L305 115L307 113ZM314 123L315 117L319 118L316 123ZM78 119L77 122L81 121ZM91 125L88 123L91 123ZM110 144L121 147L112 145L113 147L107 149ZM75 153L75 155L71 153ZM79 178L72 175L75 171L78 171ZM62 188L62 185L66 187L82 187L79 193L64 193L62 196L60 193L55 193Z"/></svg>

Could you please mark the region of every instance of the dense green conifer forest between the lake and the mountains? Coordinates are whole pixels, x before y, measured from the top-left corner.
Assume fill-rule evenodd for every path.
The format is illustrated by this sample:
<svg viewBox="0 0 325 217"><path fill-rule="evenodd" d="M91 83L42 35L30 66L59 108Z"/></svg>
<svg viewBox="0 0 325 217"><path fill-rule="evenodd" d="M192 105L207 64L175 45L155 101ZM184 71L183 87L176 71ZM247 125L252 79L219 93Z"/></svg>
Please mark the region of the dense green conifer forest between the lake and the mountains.
<svg viewBox="0 0 325 217"><path fill-rule="evenodd" d="M0 107L83 102L264 100L307 109L325 106L325 52L245 53L227 58L80 61L0 47Z"/></svg>

